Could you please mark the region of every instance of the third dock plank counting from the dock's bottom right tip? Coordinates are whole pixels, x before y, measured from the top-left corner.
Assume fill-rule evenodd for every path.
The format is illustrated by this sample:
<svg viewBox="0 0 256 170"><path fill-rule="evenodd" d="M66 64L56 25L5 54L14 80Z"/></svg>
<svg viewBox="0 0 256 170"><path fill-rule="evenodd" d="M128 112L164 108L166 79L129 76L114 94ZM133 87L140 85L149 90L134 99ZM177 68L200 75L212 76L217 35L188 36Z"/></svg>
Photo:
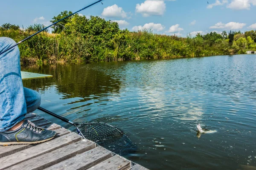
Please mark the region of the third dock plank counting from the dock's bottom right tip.
<svg viewBox="0 0 256 170"><path fill-rule="evenodd" d="M96 147L87 152L81 153L73 158L55 164L46 170L86 170L99 162L102 162L112 156L109 150L103 147Z"/></svg>

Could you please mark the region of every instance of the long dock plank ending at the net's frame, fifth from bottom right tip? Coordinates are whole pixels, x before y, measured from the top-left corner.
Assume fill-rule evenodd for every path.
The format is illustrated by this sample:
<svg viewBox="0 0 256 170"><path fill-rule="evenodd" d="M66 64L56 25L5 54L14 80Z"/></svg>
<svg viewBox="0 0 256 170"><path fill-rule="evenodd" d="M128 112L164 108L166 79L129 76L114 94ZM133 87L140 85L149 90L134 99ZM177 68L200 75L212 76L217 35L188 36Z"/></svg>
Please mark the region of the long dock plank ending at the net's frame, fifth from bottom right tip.
<svg viewBox="0 0 256 170"><path fill-rule="evenodd" d="M20 162L33 159L37 156L41 156L45 153L49 153L53 150L67 146L68 144L72 144L74 142L78 142L80 140L81 140L81 136L75 133L69 133L59 138L52 139L49 142L44 142L34 147L30 147L26 150L17 152L15 153L15 156L12 156L12 155L5 156L3 158L0 158L0 162L1 162L0 170L6 169L8 167L12 167L16 164L19 164Z"/></svg>

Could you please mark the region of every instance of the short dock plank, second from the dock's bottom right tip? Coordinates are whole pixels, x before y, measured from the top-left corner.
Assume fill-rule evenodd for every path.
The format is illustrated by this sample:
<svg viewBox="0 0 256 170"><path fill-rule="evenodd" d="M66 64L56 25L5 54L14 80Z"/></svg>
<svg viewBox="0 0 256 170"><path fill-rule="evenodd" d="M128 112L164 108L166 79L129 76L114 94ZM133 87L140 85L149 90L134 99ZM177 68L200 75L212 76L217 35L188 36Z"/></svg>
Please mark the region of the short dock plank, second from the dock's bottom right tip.
<svg viewBox="0 0 256 170"><path fill-rule="evenodd" d="M131 168L130 161L115 155L91 167L89 170L129 170L130 168Z"/></svg>

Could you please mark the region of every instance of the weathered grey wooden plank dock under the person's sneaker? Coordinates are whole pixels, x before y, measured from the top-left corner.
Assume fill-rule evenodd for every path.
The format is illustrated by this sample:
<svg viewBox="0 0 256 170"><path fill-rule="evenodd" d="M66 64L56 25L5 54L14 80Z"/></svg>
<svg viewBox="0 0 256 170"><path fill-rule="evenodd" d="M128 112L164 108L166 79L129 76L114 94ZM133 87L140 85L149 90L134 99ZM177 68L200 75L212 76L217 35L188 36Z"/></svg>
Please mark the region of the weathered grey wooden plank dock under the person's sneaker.
<svg viewBox="0 0 256 170"><path fill-rule="evenodd" d="M41 144L0 147L0 170L147 170L34 113L26 119L57 136Z"/></svg>

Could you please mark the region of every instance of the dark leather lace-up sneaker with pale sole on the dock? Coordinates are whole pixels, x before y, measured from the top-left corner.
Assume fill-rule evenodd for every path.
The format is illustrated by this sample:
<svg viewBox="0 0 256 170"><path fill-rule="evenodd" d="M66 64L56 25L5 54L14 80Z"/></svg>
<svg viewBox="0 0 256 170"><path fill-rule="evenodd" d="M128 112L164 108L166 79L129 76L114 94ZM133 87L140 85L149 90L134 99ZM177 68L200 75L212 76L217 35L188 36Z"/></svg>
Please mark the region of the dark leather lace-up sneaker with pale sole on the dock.
<svg viewBox="0 0 256 170"><path fill-rule="evenodd" d="M0 132L0 146L38 144L53 139L55 135L55 131L37 127L29 120L25 120L16 130Z"/></svg>

